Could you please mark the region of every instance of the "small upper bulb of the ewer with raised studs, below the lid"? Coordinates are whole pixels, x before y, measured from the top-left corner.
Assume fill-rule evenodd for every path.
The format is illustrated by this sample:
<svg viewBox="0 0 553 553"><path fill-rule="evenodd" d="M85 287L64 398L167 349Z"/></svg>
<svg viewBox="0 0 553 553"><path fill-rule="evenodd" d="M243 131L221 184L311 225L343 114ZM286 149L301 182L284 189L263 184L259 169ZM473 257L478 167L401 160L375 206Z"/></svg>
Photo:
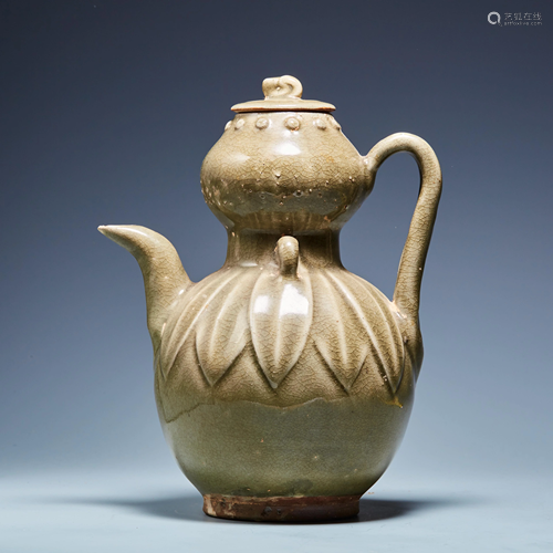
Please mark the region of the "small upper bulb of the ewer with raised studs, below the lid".
<svg viewBox="0 0 553 553"><path fill-rule="evenodd" d="M201 167L227 229L341 229L371 191L364 158L327 113L239 113Z"/></svg>

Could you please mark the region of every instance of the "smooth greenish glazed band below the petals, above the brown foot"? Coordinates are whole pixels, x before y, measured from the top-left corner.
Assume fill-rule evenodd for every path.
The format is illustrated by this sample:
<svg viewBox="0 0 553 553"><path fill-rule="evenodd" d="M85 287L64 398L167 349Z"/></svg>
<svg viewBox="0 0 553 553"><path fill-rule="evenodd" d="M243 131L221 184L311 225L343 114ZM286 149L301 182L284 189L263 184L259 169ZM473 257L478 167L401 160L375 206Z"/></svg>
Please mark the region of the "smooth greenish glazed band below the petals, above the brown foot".
<svg viewBox="0 0 553 553"><path fill-rule="evenodd" d="M361 495L392 461L410 407L411 397L404 409L355 397L293 407L223 401L168 422L166 437L204 494Z"/></svg>

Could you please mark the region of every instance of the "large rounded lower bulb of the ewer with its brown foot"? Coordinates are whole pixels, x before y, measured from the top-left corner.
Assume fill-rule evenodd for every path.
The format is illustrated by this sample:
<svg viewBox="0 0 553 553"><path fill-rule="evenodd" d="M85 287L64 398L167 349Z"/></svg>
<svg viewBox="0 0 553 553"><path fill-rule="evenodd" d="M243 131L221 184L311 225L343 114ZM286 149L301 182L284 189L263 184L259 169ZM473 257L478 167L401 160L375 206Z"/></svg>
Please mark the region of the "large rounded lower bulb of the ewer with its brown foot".
<svg viewBox="0 0 553 553"><path fill-rule="evenodd" d="M278 260L284 239L260 240L273 241L258 244L269 254L228 263L171 310L155 373L166 439L210 514L271 520L271 502L314 498L315 514L284 510L284 520L333 518L344 505L320 512L320 503L345 497L355 514L405 432L422 356L418 328L368 282L321 262L319 249L332 250L337 237L301 237L288 278ZM255 312L268 296L274 310ZM282 313L286 296L293 313ZM244 512L249 499L255 508Z"/></svg>

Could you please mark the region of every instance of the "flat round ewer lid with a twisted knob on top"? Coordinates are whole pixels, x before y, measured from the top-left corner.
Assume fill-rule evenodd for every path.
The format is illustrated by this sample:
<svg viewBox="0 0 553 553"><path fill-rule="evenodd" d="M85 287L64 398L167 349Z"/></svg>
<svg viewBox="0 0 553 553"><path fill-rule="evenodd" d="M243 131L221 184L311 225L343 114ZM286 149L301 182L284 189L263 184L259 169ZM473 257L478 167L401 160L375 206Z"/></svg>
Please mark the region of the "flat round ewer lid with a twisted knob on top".
<svg viewBox="0 0 553 553"><path fill-rule="evenodd" d="M233 112L333 112L332 104L316 100L302 100L303 86L291 75L275 76L263 81L264 100L243 102L231 107Z"/></svg>

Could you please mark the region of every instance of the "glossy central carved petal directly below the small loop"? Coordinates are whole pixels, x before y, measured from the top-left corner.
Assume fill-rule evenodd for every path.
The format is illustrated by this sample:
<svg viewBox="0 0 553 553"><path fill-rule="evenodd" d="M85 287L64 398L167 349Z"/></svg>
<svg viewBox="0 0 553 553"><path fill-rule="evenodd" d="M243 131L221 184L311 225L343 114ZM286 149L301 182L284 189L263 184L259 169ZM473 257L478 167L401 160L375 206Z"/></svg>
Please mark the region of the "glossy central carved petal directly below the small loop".
<svg viewBox="0 0 553 553"><path fill-rule="evenodd" d="M264 271L250 301L250 327L259 364L273 388L298 362L311 326L313 300L307 271L292 278Z"/></svg>

